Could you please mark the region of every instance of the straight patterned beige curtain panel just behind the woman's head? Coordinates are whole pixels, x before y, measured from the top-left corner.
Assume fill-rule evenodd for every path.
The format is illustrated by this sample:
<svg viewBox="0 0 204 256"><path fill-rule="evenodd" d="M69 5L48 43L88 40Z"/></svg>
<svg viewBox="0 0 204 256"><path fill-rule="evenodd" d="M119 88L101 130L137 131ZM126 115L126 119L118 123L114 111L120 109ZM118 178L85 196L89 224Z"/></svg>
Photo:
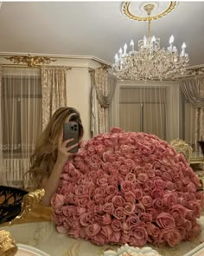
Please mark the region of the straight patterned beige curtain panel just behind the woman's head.
<svg viewBox="0 0 204 256"><path fill-rule="evenodd" d="M58 108L67 106L66 75L64 67L41 68L42 129Z"/></svg>

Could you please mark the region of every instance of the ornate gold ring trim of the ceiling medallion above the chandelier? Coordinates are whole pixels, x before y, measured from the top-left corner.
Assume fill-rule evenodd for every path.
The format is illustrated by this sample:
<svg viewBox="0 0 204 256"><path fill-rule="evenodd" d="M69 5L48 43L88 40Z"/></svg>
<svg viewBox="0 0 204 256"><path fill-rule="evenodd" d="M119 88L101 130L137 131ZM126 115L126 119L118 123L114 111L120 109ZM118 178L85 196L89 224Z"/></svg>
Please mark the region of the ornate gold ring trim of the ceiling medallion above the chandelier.
<svg viewBox="0 0 204 256"><path fill-rule="evenodd" d="M172 10L175 9L177 2L170 2L169 3L169 7L166 10L163 10L163 12L161 12L160 14L157 14L156 16L136 16L134 14L131 13L130 11L130 5L131 2L124 2L123 6L122 6L122 12L125 16L129 17L132 20L135 21L139 21L139 22L146 22L146 21L152 21L152 20L156 20L159 19L163 16L166 16L167 14L169 14L169 12L171 12Z"/></svg>

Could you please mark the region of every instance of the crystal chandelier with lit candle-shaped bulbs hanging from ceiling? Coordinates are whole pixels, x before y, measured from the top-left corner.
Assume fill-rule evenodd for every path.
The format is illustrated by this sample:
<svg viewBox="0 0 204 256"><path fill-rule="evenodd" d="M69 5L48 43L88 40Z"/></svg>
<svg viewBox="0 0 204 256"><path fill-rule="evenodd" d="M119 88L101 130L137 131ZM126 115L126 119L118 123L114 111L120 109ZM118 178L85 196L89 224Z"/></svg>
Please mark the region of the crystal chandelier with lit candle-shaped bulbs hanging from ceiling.
<svg viewBox="0 0 204 256"><path fill-rule="evenodd" d="M186 44L182 43L182 51L179 54L174 43L174 36L170 36L169 47L160 48L160 38L150 36L151 12L154 4L145 4L143 9L148 17L148 36L138 41L138 50L134 48L131 40L131 50L127 52L127 44L124 50L119 49L112 65L113 73L120 80L160 80L174 79L175 75L182 75L188 66L188 54L185 52Z"/></svg>

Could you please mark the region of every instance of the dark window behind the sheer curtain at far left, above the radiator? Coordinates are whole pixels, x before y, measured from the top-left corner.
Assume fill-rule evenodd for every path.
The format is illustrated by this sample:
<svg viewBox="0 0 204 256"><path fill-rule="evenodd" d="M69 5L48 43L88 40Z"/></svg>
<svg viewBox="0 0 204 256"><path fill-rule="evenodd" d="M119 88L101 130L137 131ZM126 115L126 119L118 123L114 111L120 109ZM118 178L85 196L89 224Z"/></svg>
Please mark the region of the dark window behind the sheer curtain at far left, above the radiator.
<svg viewBox="0 0 204 256"><path fill-rule="evenodd" d="M40 73L39 70L37 72ZM19 72L18 72L19 73ZM3 157L25 158L41 134L41 76L13 74L2 79Z"/></svg>

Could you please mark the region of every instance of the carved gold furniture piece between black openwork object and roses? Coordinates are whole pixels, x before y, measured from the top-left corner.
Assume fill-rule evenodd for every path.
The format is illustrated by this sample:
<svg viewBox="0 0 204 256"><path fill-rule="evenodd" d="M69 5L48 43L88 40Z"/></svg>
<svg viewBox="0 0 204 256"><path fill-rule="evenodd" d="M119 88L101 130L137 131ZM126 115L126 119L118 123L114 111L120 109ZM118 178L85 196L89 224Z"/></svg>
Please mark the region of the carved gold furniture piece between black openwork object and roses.
<svg viewBox="0 0 204 256"><path fill-rule="evenodd" d="M45 194L44 189L37 189L23 196L22 211L11 220L9 226L28 222L41 222L52 220L52 207L45 207L41 198Z"/></svg>

